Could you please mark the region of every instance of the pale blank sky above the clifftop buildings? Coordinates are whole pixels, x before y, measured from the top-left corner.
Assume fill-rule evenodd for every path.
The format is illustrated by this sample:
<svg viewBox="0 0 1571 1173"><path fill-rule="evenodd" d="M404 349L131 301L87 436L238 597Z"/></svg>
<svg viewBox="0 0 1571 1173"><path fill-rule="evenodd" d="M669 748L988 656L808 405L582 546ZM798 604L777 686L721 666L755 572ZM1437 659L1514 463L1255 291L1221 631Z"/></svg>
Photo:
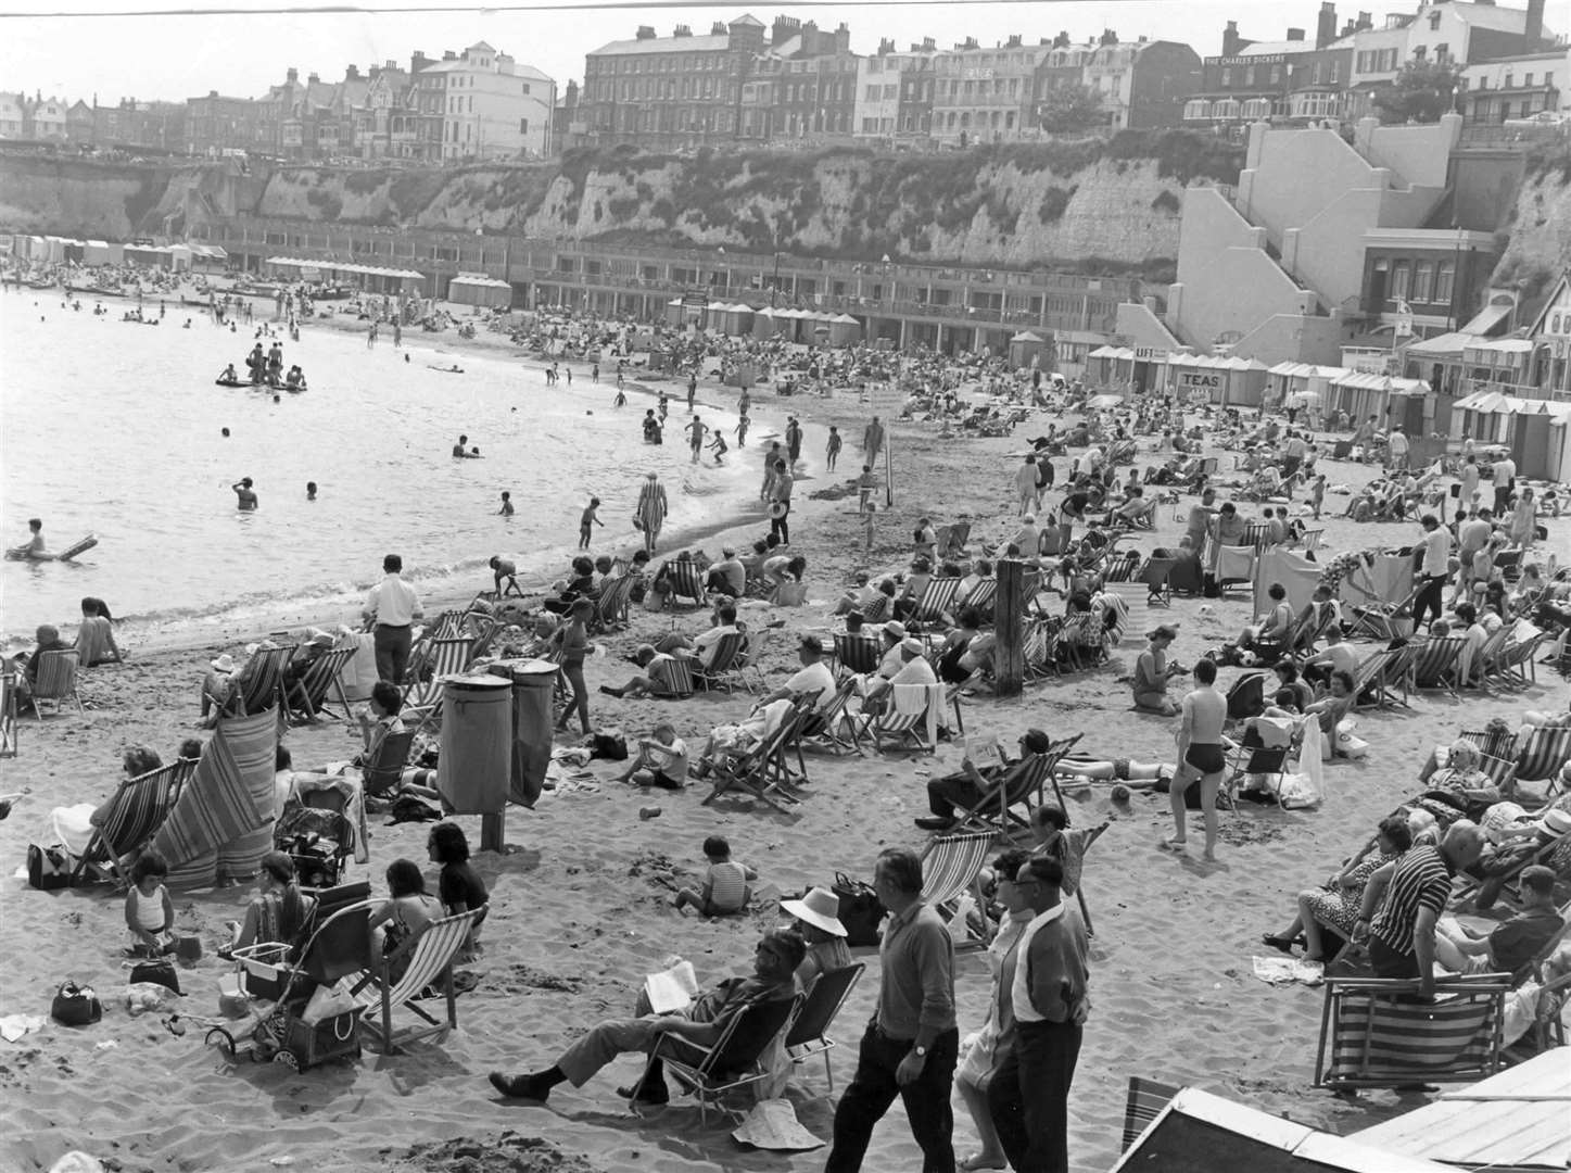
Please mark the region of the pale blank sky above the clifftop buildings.
<svg viewBox="0 0 1571 1173"><path fill-rule="evenodd" d="M902 49L924 36L952 46L968 36L983 46L1013 33L1027 42L1065 30L1082 42L1112 28L1120 39L1188 41L1202 57L1221 52L1222 27L1236 19L1255 41L1276 41L1288 27L1313 36L1320 0L1034 0L1031 3L829 5L790 3L748 6L738 0L713 8L685 8L660 0L646 6L578 6L584 0L555 0L569 11L525 11L526 5L479 8L454 0L347 0L377 11L306 13L335 6L333 0L203 0L206 11L174 9L170 0L5 0L0 3L0 90L112 104L121 97L184 101L217 90L233 97L259 97L283 82L295 66L333 82L347 64L394 60L408 66L415 50L441 57L476 41L533 64L566 88L583 80L584 53L632 38L639 25L660 36L685 24L694 35L715 20L753 13L768 25L776 16L817 20L851 30L851 49L872 53L880 36L894 36ZM1338 0L1338 24L1371 0ZM421 6L426 11L408 11ZM1415 2L1393 3L1411 11ZM1375 6L1379 8L1379 6ZM1376 22L1384 16L1376 11ZM138 14L132 14L138 13Z"/></svg>

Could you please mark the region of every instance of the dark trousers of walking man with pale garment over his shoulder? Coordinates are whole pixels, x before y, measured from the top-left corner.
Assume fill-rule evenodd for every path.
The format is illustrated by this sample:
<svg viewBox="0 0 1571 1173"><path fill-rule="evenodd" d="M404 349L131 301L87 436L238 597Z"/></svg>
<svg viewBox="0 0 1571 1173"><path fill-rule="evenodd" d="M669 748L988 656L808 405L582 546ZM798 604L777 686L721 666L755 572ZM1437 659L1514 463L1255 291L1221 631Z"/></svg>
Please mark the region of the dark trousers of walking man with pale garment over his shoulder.
<svg viewBox="0 0 1571 1173"><path fill-rule="evenodd" d="M1068 1173L1070 1083L1084 1027L1016 1022L988 1085L988 1115L1016 1173Z"/></svg>

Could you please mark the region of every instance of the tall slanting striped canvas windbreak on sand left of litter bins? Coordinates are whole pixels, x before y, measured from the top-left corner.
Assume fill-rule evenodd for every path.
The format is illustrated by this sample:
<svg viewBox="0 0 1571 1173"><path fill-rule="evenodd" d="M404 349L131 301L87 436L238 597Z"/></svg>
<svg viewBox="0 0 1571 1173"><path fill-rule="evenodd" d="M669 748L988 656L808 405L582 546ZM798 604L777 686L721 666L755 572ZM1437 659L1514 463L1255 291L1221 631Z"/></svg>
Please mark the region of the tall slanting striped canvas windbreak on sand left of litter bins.
<svg viewBox="0 0 1571 1173"><path fill-rule="evenodd" d="M278 712L223 717L152 849L170 865L168 884L195 887L251 876L272 851Z"/></svg>

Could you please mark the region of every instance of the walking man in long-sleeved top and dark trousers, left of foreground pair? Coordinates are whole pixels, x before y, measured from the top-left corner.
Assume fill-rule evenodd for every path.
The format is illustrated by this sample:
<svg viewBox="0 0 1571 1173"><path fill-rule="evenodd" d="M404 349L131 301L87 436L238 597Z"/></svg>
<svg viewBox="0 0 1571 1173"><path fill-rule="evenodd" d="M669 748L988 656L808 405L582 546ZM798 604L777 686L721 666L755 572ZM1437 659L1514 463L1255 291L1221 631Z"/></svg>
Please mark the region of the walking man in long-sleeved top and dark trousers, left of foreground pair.
<svg viewBox="0 0 1571 1173"><path fill-rule="evenodd" d="M862 1167L873 1126L899 1096L922 1148L922 1173L954 1173L955 1116L949 1090L960 1050L955 1028L955 948L938 912L922 899L922 862L886 848L873 892L889 909L878 945L878 1011L862 1035L851 1087L834 1112L834 1148L825 1173Z"/></svg>

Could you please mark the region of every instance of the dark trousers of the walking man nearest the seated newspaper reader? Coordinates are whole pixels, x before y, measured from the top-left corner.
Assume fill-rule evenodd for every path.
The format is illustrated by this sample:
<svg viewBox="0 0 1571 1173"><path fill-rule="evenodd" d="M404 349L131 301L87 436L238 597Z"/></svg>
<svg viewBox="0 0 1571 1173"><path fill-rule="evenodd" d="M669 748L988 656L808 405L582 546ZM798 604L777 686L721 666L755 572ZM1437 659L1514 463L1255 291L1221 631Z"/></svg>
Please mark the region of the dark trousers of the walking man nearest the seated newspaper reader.
<svg viewBox="0 0 1571 1173"><path fill-rule="evenodd" d="M834 1110L834 1146L823 1173L856 1173L862 1167L873 1126L883 1120L895 1096L905 1104L911 1135L922 1149L922 1173L954 1173L955 1113L949 1107L949 1090L960 1053L960 1031L950 1028L933 1039L922 1074L902 1088L894 1072L910 1050L911 1039L888 1038L877 1022L867 1024L856 1057L856 1076Z"/></svg>

